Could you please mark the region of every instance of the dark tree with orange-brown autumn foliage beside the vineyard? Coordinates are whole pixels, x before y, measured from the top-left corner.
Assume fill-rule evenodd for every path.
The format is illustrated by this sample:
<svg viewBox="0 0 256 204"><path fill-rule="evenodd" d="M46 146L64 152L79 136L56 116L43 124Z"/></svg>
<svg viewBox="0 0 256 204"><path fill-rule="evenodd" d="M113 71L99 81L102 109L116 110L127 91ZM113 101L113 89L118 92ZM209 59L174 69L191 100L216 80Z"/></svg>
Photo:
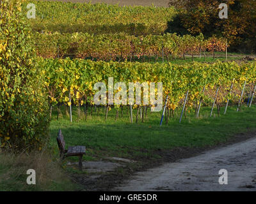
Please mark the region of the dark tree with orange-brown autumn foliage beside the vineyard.
<svg viewBox="0 0 256 204"><path fill-rule="evenodd" d="M180 27L189 33L193 35L203 33L206 37L221 36L227 38L228 43L233 45L246 40L255 41L255 1L186 0L182 3L183 5L180 1L170 1L170 5L179 9ZM220 19L218 16L220 3L228 5L227 19ZM171 29L170 27L168 31ZM179 30L180 28L177 29Z"/></svg>

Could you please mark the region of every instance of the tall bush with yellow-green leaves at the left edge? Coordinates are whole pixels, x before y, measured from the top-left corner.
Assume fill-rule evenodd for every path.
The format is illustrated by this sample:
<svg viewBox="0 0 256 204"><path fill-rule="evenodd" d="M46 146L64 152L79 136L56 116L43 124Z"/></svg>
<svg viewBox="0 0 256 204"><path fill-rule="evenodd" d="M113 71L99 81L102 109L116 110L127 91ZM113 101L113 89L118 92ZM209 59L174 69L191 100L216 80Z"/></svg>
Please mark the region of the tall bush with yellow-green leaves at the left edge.
<svg viewBox="0 0 256 204"><path fill-rule="evenodd" d="M1 1L0 145L41 149L49 138L49 110L41 70L20 1Z"/></svg>

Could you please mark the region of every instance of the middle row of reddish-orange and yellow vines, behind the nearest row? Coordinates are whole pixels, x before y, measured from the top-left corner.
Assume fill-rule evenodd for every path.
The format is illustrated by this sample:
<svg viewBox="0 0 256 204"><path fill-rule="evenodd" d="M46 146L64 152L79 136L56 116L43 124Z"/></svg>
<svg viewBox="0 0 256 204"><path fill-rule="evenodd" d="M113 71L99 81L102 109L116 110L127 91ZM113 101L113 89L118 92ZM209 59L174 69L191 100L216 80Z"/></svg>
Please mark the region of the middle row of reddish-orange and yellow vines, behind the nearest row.
<svg viewBox="0 0 256 204"><path fill-rule="evenodd" d="M178 36L163 34L161 36L129 36L125 33L93 35L88 33L35 33L36 54L44 58L75 57L104 61L132 61L134 57L176 58L185 55L205 55L206 52L224 52L226 40L204 36Z"/></svg>

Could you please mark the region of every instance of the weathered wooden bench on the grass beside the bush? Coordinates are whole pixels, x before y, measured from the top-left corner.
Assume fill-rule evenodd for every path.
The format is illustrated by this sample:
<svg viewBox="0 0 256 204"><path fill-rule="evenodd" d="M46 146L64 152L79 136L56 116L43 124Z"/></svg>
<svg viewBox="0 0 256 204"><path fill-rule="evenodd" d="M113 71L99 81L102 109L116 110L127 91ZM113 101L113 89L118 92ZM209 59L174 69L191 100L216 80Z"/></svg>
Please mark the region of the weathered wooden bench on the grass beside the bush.
<svg viewBox="0 0 256 204"><path fill-rule="evenodd" d="M66 144L64 141L64 137L61 133L61 129L58 132L57 143L58 143L58 147L60 149L61 160L65 159L65 157L78 156L79 157L79 170L82 170L82 168L83 168L82 157L85 154L85 147L84 146L68 147L68 149L66 150L65 149Z"/></svg>

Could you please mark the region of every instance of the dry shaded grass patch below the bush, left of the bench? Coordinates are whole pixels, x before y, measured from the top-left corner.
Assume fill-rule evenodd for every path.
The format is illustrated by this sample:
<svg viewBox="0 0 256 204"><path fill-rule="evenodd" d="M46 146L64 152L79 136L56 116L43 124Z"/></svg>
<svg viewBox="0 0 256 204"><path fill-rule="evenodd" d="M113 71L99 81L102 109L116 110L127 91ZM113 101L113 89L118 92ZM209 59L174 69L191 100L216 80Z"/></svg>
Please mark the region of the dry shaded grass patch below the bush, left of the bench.
<svg viewBox="0 0 256 204"><path fill-rule="evenodd" d="M27 170L36 171L36 184L28 185ZM74 191L79 189L67 177L49 152L0 154L0 191Z"/></svg>

